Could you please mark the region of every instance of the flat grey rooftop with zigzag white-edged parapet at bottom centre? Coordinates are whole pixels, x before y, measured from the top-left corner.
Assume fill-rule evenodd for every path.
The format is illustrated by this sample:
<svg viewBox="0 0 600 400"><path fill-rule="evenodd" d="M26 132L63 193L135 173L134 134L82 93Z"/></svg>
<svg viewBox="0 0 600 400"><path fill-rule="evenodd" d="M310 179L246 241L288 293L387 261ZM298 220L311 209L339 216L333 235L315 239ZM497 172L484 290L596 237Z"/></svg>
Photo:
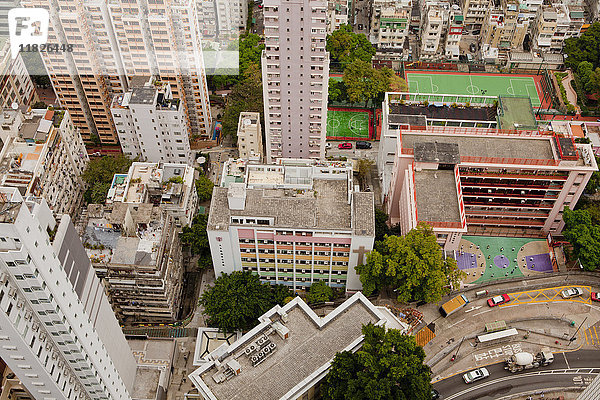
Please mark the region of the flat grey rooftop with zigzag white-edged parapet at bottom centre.
<svg viewBox="0 0 600 400"><path fill-rule="evenodd" d="M190 379L201 393L216 399L296 399L322 377L337 352L360 346L364 324L406 327L397 320L388 325L388 318L395 319L360 292L323 318L297 297L265 313L257 327L232 345L211 353ZM246 349L259 340L271 351L257 360L259 352ZM237 375L229 373L230 366Z"/></svg>

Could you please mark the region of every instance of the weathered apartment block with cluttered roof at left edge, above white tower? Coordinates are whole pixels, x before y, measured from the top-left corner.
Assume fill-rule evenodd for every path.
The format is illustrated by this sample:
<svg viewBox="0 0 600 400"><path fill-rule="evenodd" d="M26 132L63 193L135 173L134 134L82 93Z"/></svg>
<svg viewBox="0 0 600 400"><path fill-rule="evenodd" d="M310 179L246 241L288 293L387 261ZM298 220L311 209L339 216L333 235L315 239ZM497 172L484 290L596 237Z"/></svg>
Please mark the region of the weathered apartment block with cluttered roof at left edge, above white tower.
<svg viewBox="0 0 600 400"><path fill-rule="evenodd" d="M86 188L89 157L66 110L14 112L3 129L12 135L0 151L0 184L23 196L43 197L56 215L75 215Z"/></svg>

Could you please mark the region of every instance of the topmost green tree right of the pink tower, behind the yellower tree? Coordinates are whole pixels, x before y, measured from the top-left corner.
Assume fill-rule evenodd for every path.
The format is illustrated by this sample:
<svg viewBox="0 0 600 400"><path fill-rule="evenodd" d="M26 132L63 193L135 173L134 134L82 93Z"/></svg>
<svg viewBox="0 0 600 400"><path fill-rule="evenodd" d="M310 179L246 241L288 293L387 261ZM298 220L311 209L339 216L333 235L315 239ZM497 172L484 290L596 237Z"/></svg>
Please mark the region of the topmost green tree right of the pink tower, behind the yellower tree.
<svg viewBox="0 0 600 400"><path fill-rule="evenodd" d="M327 35L325 49L329 52L331 68L336 71L342 71L354 60L370 63L376 51L367 37L354 33L350 25L342 25Z"/></svg>

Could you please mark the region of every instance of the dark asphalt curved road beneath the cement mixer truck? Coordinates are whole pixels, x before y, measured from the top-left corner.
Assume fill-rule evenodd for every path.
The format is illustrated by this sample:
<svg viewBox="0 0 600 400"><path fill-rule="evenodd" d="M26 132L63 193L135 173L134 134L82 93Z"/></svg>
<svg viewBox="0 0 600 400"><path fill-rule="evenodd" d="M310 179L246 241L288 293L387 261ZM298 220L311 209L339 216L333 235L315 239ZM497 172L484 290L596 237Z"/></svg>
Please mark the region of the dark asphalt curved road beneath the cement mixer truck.
<svg viewBox="0 0 600 400"><path fill-rule="evenodd" d="M462 373L434 383L444 400L494 400L501 396L556 387L582 386L600 373L600 350L555 353L546 367L510 373L503 363L486 366L490 376L465 384Z"/></svg>

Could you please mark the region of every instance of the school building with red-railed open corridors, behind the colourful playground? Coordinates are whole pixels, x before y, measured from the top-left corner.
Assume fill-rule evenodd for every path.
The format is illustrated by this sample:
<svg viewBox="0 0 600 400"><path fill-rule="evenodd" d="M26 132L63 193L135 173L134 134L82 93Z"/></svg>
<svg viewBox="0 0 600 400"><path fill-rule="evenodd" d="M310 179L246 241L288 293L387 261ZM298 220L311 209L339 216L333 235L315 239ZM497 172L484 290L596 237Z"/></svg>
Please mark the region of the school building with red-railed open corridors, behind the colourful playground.
<svg viewBox="0 0 600 400"><path fill-rule="evenodd" d="M590 145L551 132L422 127L389 116L384 122L382 137L389 140L381 142L380 163L391 222L405 229L421 220L438 223L448 250L464 232L560 233L564 207L575 207L598 168ZM439 218L435 199L447 205Z"/></svg>

